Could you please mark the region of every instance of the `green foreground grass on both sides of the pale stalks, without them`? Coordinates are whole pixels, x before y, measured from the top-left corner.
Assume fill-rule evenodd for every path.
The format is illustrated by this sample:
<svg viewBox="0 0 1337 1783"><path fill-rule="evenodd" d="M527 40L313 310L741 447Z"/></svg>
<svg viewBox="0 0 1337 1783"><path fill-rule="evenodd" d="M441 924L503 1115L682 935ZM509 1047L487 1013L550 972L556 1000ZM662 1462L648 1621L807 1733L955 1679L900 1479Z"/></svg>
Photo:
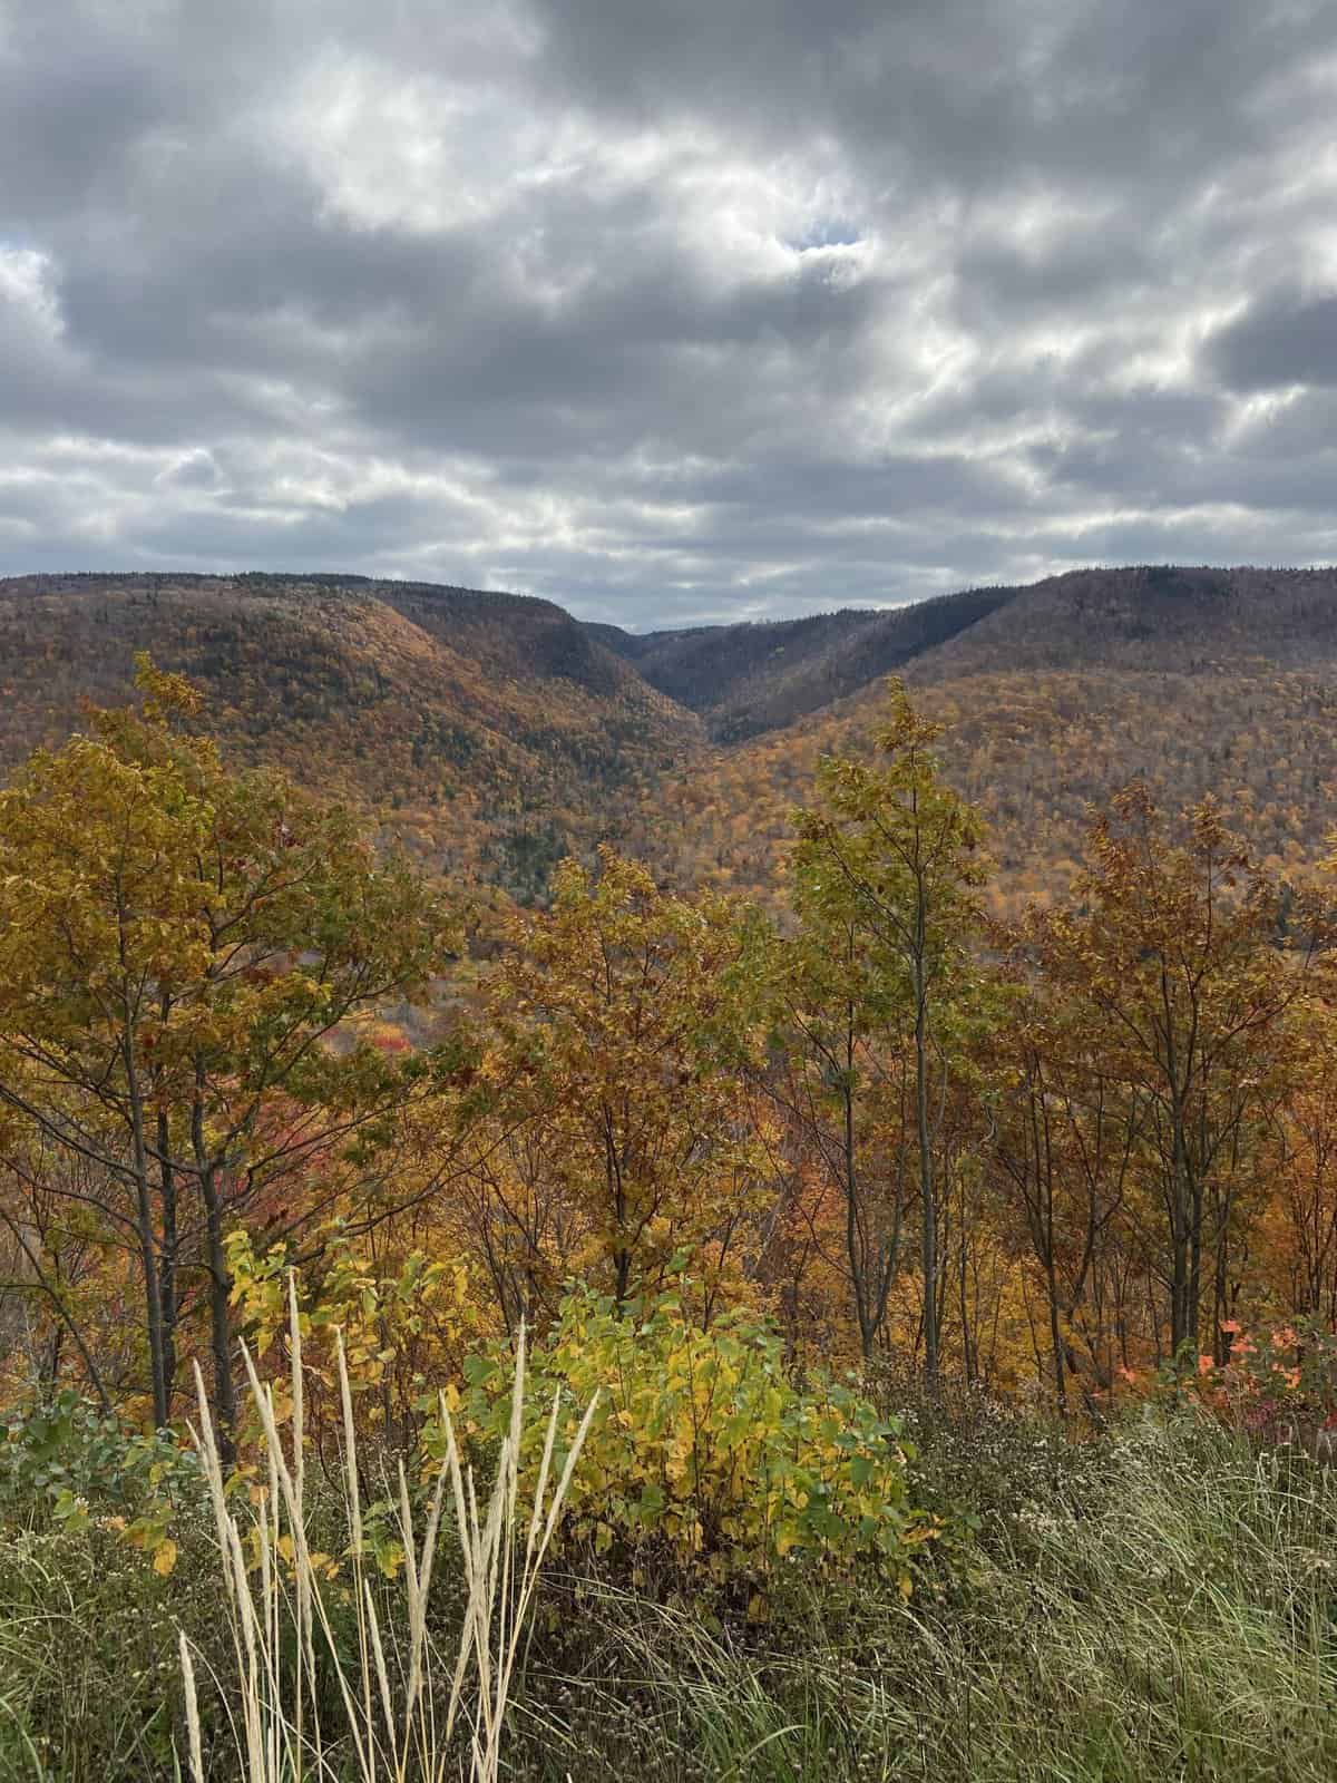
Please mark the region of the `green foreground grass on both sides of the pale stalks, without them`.
<svg viewBox="0 0 1337 1783"><path fill-rule="evenodd" d="M1148 1416L1080 1444L988 1407L920 1414L918 1426L920 1498L979 1530L909 1601L795 1567L758 1624L551 1569L499 1774L1337 1776L1332 1471L1189 1419ZM444 1533L442 1630L462 1614L449 1546ZM189 1774L178 1628L209 1689L210 1671L228 1676L223 1624L203 1517L168 1580L111 1532L11 1523L0 1778ZM390 1646L389 1617L385 1633ZM444 1699L451 1678L431 1689ZM207 1772L232 1783L246 1772L216 1719ZM332 1774L362 1774L351 1751L328 1756ZM442 1779L469 1774L467 1744L439 1756Z"/></svg>

